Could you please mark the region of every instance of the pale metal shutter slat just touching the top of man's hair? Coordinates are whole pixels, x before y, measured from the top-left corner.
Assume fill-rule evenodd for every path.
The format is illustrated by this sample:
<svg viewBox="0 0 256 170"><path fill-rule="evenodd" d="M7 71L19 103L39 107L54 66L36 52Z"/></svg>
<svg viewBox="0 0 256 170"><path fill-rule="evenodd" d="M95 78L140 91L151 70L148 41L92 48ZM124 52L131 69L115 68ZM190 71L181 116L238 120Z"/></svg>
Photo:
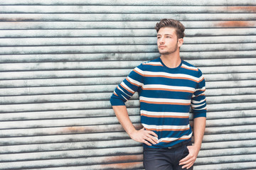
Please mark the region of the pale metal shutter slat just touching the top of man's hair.
<svg viewBox="0 0 256 170"><path fill-rule="evenodd" d="M90 14L2 14L1 21L156 21L158 18L177 18L180 21L225 21L241 20L248 21L255 19L254 13L189 13L189 14L172 14L172 13L124 13L120 16L118 13L90 13ZM246 18L246 19L245 19Z"/></svg>

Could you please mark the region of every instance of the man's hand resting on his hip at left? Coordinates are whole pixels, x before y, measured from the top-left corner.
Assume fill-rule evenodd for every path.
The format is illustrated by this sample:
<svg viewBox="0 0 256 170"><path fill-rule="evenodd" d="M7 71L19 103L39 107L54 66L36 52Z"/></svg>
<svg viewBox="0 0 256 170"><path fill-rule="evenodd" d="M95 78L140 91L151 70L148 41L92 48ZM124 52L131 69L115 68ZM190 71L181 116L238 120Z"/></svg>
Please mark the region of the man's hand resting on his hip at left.
<svg viewBox="0 0 256 170"><path fill-rule="evenodd" d="M152 144L156 145L158 143L158 136L156 135L156 133L150 130L145 130L144 128L142 128L141 130L134 130L130 134L130 137L132 138L132 140L142 142L149 146L151 146Z"/></svg>

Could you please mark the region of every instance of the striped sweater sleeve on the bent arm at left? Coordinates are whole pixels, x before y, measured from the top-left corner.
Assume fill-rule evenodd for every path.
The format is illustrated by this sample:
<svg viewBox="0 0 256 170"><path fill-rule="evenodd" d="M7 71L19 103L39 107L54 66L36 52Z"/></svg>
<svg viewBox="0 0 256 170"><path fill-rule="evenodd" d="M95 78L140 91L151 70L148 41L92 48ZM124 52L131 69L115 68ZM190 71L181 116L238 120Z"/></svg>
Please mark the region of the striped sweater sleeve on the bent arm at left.
<svg viewBox="0 0 256 170"><path fill-rule="evenodd" d="M110 98L112 106L124 106L125 102L132 97L132 95L139 91L143 85L143 64L130 72L129 76L122 81L121 84L114 89L114 92Z"/></svg>

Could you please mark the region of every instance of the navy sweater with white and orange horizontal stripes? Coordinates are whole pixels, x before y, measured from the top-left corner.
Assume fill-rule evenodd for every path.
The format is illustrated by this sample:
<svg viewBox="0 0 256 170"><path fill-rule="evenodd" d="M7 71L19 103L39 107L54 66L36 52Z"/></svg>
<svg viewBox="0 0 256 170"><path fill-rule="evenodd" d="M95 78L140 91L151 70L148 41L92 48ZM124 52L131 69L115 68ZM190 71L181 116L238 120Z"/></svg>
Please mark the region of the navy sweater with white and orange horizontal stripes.
<svg viewBox="0 0 256 170"><path fill-rule="evenodd" d="M140 64L114 90L110 99L112 106L124 106L136 91L141 123L159 137L159 143L151 147L171 147L191 140L190 109L193 118L206 117L203 74L183 60L173 69L166 67L160 57Z"/></svg>

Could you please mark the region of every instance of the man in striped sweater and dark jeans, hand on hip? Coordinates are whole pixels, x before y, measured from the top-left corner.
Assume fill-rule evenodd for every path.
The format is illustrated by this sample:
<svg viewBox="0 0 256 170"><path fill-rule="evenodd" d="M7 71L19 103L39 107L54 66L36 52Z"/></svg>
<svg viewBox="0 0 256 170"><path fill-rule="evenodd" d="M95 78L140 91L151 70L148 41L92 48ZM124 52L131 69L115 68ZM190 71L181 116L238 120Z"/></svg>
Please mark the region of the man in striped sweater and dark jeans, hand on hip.
<svg viewBox="0 0 256 170"><path fill-rule="evenodd" d="M206 127L205 80L198 68L181 60L182 23L162 19L155 28L161 56L133 69L110 101L127 134L143 143L146 170L193 169ZM132 125L124 104L135 91L139 93L141 130Z"/></svg>

